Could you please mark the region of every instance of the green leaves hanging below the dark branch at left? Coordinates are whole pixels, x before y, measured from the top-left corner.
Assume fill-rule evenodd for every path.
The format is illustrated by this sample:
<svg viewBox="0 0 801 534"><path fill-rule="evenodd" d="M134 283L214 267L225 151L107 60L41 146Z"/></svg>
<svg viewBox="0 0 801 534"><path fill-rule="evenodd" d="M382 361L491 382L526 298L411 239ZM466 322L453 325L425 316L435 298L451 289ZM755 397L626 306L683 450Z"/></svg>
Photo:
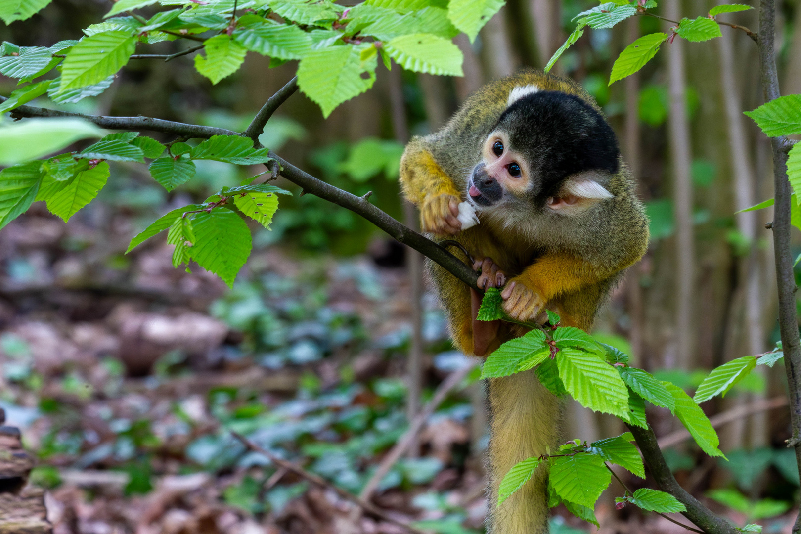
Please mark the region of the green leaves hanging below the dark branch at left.
<svg viewBox="0 0 801 534"><path fill-rule="evenodd" d="M40 126L48 129L51 123L45 121ZM78 122L79 126L82 124ZM63 138L61 143L66 144ZM172 143L169 148L136 132L106 135L83 151L34 159L0 171L0 228L26 211L34 200L46 202L47 209L66 222L106 185L110 175L108 161L145 163L146 158L152 160L153 179L167 191L195 175L195 159L236 165L271 161L266 148L254 149L250 139L237 135L215 135L195 147ZM232 285L250 255L252 240L248 225L231 205L269 228L278 209L276 195L288 193L268 184L252 185L251 181L248 179L239 187L223 187L203 204L170 211L136 235L128 251L169 229L167 243L175 245L175 267L194 260Z"/></svg>

